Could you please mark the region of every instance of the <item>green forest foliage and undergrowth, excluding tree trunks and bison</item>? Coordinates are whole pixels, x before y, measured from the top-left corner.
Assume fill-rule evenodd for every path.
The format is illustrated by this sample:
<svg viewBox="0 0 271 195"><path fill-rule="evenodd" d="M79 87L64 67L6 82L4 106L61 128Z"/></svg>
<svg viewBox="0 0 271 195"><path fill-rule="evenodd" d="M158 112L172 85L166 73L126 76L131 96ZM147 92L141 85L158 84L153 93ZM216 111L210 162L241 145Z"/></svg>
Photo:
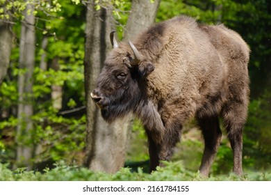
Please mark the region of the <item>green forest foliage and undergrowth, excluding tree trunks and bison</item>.
<svg viewBox="0 0 271 195"><path fill-rule="evenodd" d="M152 175L145 175L142 169L133 175L130 169L122 169L116 175L93 173L83 168L85 148L85 91L84 91L84 42L85 42L85 1L54 0L28 1L35 6L35 69L33 70L34 114L31 139L25 141L34 150L31 163L34 169L42 171L49 164L64 160L65 164L45 169L44 174L28 172L24 169L10 171L16 160L16 127L18 97L18 77L26 70L19 68L19 38L22 26L22 10L26 1L0 0L0 20L13 24L13 48L8 74L0 86L0 180L202 180L197 174L203 143L195 125L186 125L183 140L176 148L173 161ZM151 2L151 1L150 1ZM122 38L126 20L131 9L131 1L95 1L96 8L113 5L118 36ZM12 13L12 14L10 14ZM271 5L263 0L169 0L161 1L156 22L176 15L189 15L207 24L223 23L237 31L251 49L249 75L251 78L251 102L244 130L245 171L267 171L271 169ZM42 40L47 38L47 47ZM41 68L42 54L46 54L47 68ZM57 68L55 65L57 64ZM51 98L54 87L61 88L60 106ZM24 136L24 135L23 135ZM140 143L140 144L139 144ZM133 162L147 162L147 139L142 126L136 120L133 125L131 146L128 147L126 165ZM213 164L213 174L229 173L232 167L231 148L223 137L220 150ZM6 164L6 165L3 165ZM54 167L54 166L53 166ZM71 168L73 167L73 168ZM183 169L186 167L186 169ZM173 173L170 172L172 169ZM46 171L47 170L47 171ZM68 171L74 174L69 175ZM180 175L176 175L179 171ZM65 178L61 178L63 172ZM159 175L160 174L160 175ZM255 173L256 174L256 173ZM258 175L257 175L258 174ZM256 175L232 180L271 180L271 176ZM159 175L159 176L157 176ZM157 176L157 178L156 178ZM74 177L74 178L73 178ZM122 178L124 177L124 178ZM126 178L125 178L126 177ZM169 178L167 178L169 177ZM246 178L247 177L247 178ZM250 177L250 178L249 178ZM222 176L220 180L228 180ZM230 179L230 180L231 180ZM204 180L204 179L203 179ZM210 180L215 180L210 178Z"/></svg>

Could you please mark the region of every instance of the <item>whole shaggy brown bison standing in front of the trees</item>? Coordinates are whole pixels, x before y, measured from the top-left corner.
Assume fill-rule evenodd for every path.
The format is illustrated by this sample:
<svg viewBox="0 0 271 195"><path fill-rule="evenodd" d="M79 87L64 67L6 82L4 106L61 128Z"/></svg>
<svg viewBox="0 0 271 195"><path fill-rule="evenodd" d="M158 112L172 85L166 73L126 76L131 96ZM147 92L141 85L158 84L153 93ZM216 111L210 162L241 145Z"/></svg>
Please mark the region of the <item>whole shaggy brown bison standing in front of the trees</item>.
<svg viewBox="0 0 271 195"><path fill-rule="evenodd" d="M130 112L145 127L150 170L172 157L186 121L195 118L204 137L199 171L208 176L222 132L233 150L233 172L242 174L243 126L249 103L249 47L238 33L186 16L155 24L133 42L115 40L92 91L112 123Z"/></svg>

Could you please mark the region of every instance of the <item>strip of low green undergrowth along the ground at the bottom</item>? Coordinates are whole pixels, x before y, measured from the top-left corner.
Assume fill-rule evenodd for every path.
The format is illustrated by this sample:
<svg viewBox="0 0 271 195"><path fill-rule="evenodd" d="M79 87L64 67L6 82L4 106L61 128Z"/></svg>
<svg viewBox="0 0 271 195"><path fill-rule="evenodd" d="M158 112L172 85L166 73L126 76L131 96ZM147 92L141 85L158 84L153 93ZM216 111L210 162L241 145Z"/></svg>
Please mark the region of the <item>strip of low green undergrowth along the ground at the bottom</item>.
<svg viewBox="0 0 271 195"><path fill-rule="evenodd" d="M158 171L144 173L142 169L132 172L129 168L122 168L117 173L102 173L90 171L78 166L56 164L54 169L45 169L44 173L26 171L23 168L11 171L6 164L0 164L0 181L266 181L271 180L271 172L244 173L243 176L234 174L210 176L204 178L198 172L188 171L180 162L168 162L165 167L158 167Z"/></svg>

